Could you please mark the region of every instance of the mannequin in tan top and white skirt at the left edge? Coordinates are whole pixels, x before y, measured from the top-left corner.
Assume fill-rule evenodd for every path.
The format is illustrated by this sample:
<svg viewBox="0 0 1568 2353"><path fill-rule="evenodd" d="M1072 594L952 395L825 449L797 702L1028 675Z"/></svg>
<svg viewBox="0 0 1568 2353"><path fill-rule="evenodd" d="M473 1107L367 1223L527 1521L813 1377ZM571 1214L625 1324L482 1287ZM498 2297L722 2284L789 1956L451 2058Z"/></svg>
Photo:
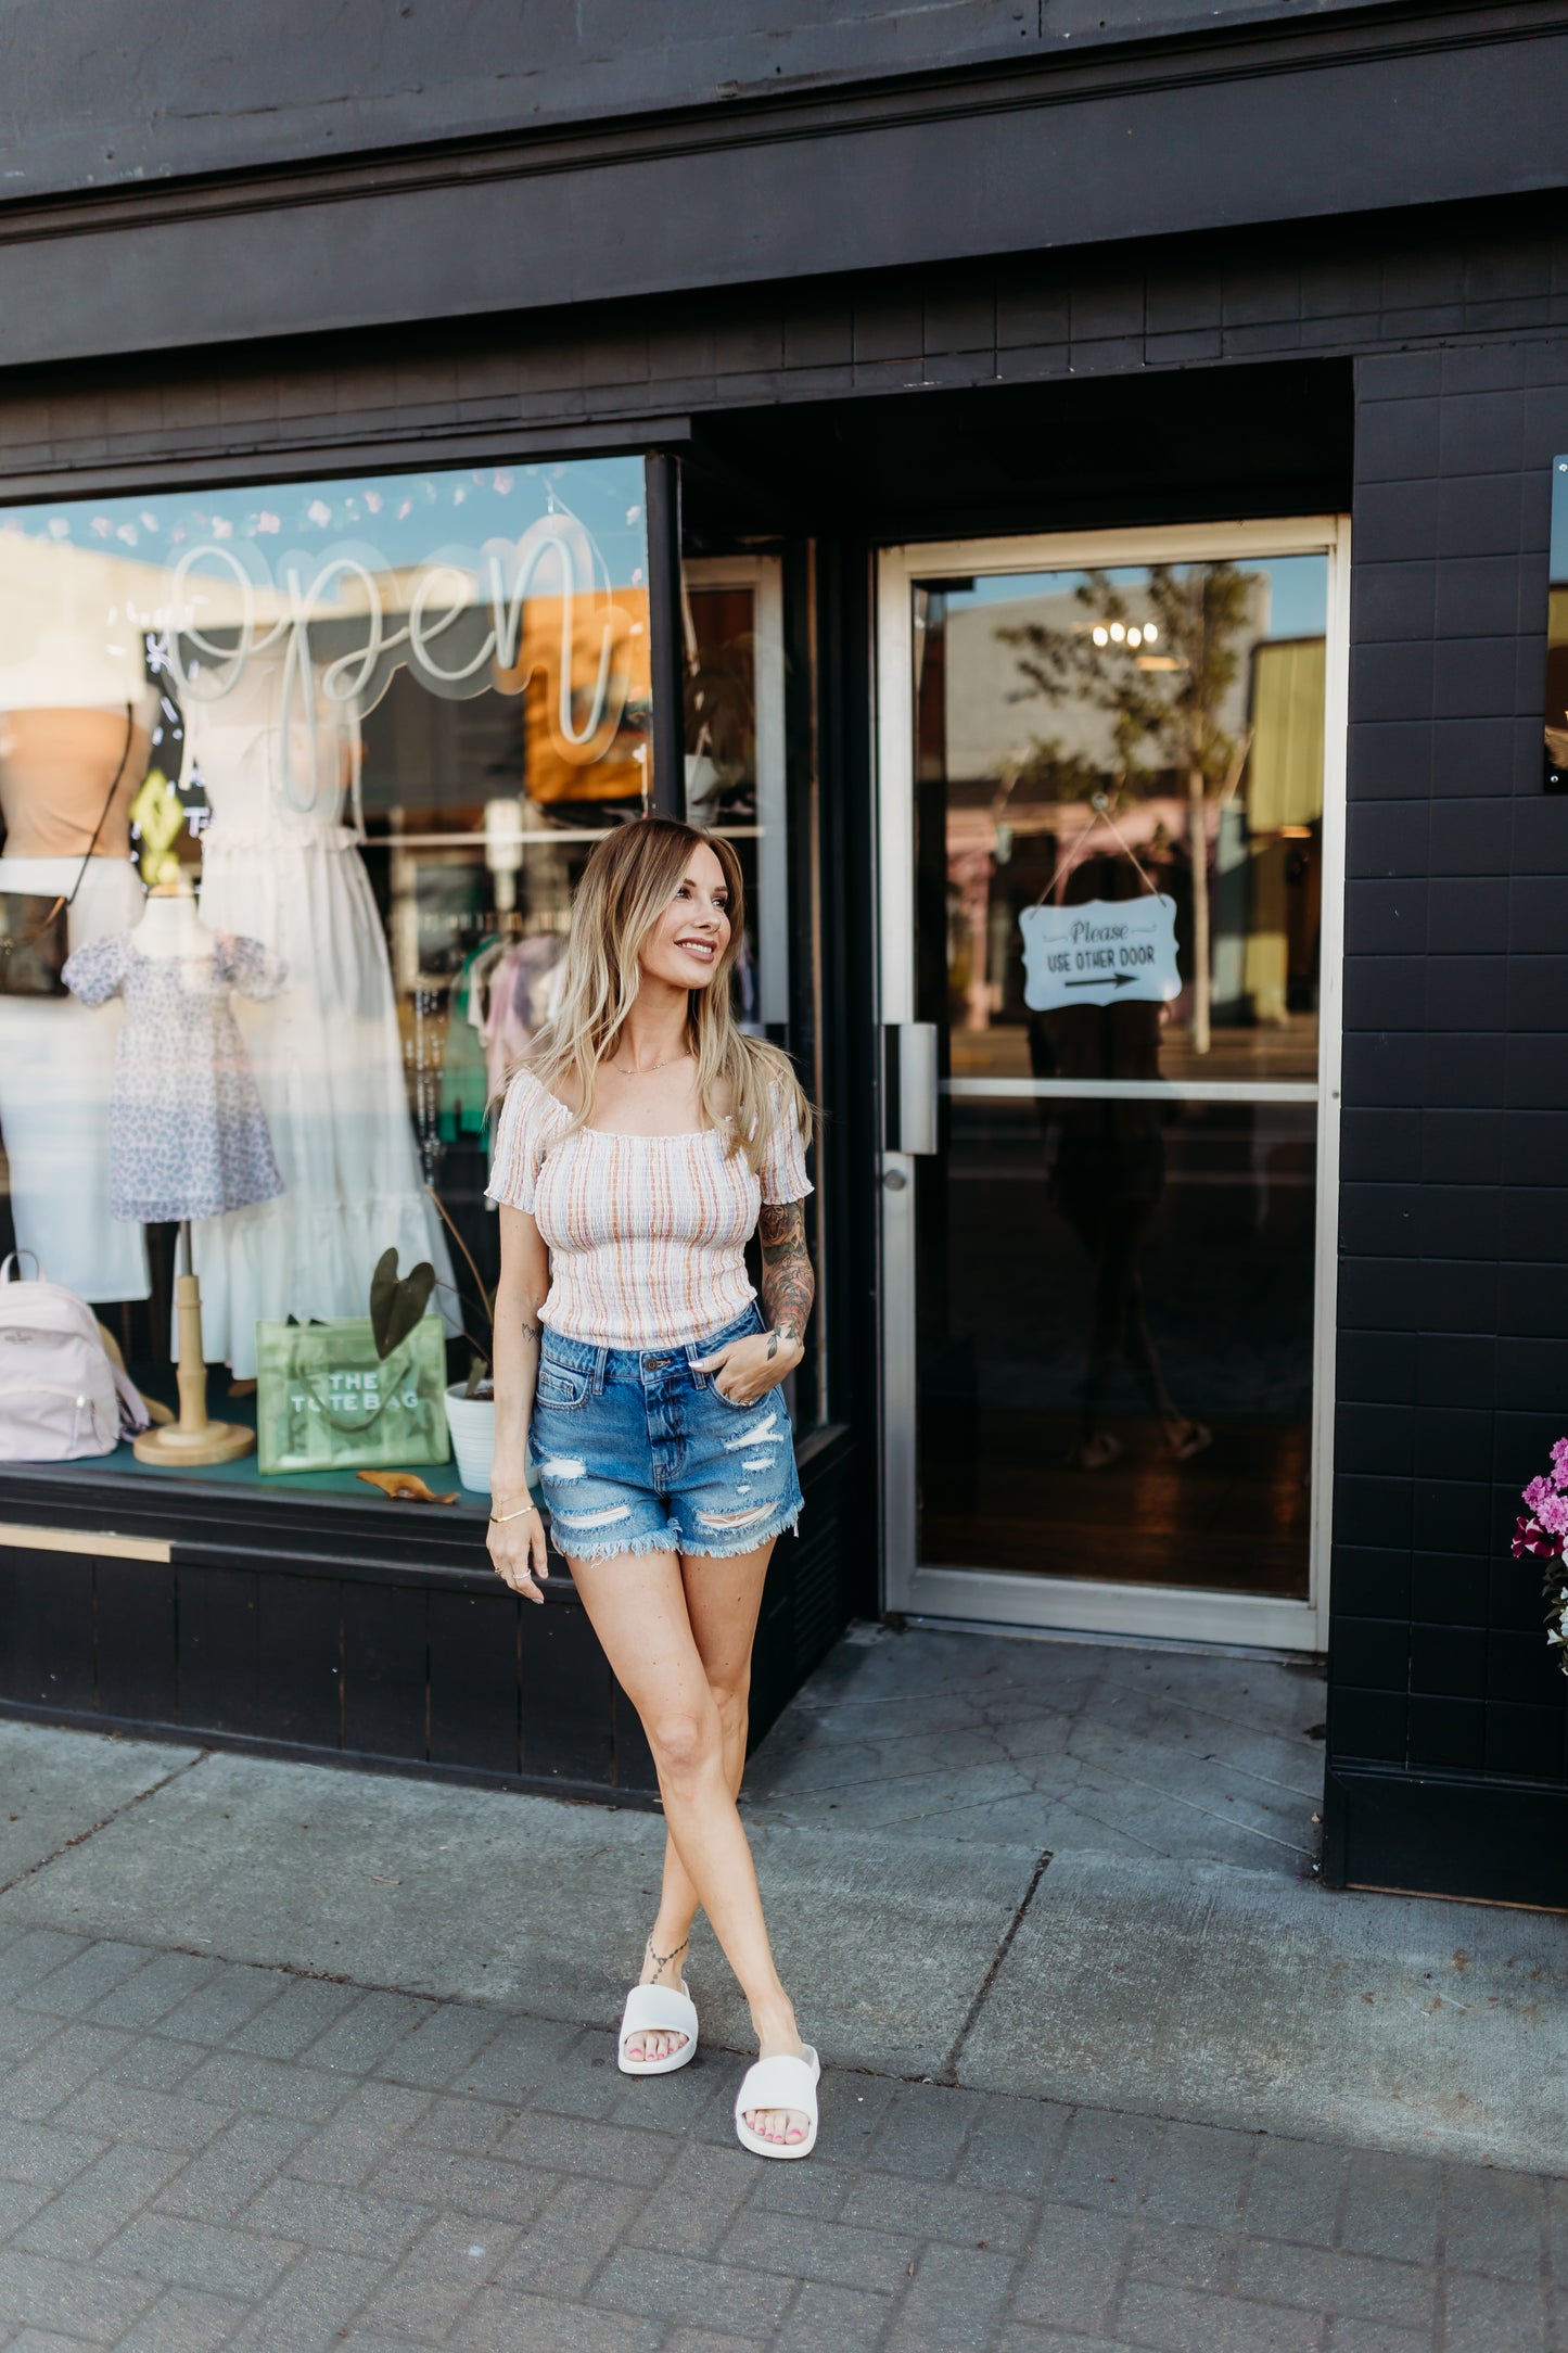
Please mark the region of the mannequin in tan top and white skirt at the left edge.
<svg viewBox="0 0 1568 2353"><path fill-rule="evenodd" d="M73 692L82 701L71 701ZM136 642L120 661L85 638L40 647L38 661L0 673L0 889L75 889L66 918L73 951L125 932L141 913L127 809L146 774L155 713L158 689L143 680ZM113 805L82 873L110 786ZM148 1297L141 1226L108 1217L118 1024L118 1007L94 1019L71 998L0 998L0 1136L16 1245L54 1282L94 1301Z"/></svg>

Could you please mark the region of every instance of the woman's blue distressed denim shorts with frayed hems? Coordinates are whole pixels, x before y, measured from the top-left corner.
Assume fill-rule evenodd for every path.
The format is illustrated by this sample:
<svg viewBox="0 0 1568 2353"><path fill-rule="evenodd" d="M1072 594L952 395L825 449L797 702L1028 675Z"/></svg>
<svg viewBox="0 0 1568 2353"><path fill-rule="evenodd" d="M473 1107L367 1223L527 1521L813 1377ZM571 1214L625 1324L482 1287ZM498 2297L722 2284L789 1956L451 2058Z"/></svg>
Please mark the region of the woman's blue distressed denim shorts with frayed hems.
<svg viewBox="0 0 1568 2353"><path fill-rule="evenodd" d="M731 1405L696 1358L762 1332L755 1306L682 1348L595 1348L545 1329L529 1445L569 1560L750 1553L799 1520L783 1391Z"/></svg>

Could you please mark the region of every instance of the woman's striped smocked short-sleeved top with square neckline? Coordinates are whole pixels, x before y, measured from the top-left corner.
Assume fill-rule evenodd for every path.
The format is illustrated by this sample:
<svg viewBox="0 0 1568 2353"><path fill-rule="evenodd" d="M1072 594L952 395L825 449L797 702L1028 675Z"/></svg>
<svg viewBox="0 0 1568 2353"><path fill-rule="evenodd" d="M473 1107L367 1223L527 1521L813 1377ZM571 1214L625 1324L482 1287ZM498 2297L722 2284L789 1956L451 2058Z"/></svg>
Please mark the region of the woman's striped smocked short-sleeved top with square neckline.
<svg viewBox="0 0 1568 2353"><path fill-rule="evenodd" d="M757 1297L745 1245L762 1202L811 1193L795 1120L780 1118L757 1179L726 1127L616 1136L578 1127L517 1071L496 1127L489 1198L529 1209L550 1249L541 1322L607 1348L679 1348Z"/></svg>

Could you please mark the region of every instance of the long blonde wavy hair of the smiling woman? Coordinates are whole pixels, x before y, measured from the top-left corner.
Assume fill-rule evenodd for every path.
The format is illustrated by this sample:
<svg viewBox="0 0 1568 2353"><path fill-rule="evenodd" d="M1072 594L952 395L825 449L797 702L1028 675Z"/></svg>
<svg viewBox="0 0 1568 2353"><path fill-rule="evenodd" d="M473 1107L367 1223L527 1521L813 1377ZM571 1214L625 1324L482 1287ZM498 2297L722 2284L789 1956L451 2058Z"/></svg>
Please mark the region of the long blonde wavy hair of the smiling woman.
<svg viewBox="0 0 1568 2353"><path fill-rule="evenodd" d="M571 1080L576 1111L562 1141L588 1127L599 1064L614 1056L637 1002L642 951L675 901L693 849L712 849L729 889L729 946L708 988L686 993L698 1104L705 1125L729 1122L729 1153L745 1153L752 1172L759 1172L783 1120L795 1120L802 1144L811 1141L811 1104L788 1054L748 1038L736 1024L729 984L745 927L745 887L731 845L701 826L682 826L672 816L637 816L595 842L571 901L562 1000L534 1040L524 1068L557 1096L562 1080Z"/></svg>

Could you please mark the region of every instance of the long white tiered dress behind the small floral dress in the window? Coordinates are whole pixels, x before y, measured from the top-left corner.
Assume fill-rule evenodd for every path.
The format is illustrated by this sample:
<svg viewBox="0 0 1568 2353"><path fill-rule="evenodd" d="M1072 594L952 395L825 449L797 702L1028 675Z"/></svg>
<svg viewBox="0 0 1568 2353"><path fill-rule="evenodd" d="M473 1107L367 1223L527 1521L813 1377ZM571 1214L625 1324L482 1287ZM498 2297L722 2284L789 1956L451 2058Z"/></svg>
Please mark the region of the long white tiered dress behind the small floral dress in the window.
<svg viewBox="0 0 1568 2353"><path fill-rule="evenodd" d="M282 659L252 654L216 701L186 701L186 758L212 821L202 922L259 939L287 965L282 993L235 1005L284 1191L200 1219L207 1358L256 1372L256 1322L367 1315L383 1249L451 1282L444 1228L423 1191L381 915L343 795L360 755L353 708L320 694L282 734ZM435 1306L451 1308L451 1289ZM451 1322L451 1318L449 1318Z"/></svg>

